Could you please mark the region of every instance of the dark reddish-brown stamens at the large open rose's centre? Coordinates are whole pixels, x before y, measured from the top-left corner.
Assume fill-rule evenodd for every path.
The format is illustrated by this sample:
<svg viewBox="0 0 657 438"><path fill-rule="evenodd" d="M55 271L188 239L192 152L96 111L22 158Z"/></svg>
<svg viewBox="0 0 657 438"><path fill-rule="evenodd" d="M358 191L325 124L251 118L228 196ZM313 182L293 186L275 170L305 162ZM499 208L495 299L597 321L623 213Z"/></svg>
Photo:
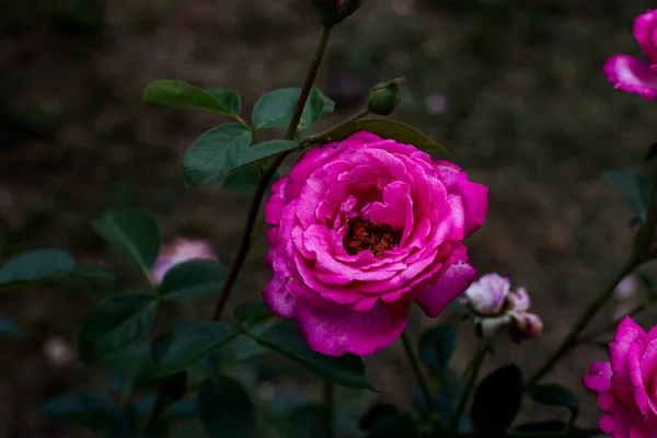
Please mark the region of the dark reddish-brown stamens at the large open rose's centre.
<svg viewBox="0 0 657 438"><path fill-rule="evenodd" d="M400 233L391 226L358 218L349 222L343 244L349 255L369 250L374 257L380 257L384 251L399 245L400 240Z"/></svg>

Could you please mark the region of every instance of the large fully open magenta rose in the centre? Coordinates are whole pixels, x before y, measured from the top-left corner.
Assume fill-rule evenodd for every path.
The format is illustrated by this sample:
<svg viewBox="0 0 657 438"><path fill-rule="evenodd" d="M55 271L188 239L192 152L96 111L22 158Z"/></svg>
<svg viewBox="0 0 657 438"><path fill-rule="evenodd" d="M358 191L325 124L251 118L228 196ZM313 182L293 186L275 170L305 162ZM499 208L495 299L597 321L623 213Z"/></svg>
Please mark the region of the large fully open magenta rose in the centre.
<svg viewBox="0 0 657 438"><path fill-rule="evenodd" d="M411 301L437 316L474 278L461 241L488 191L413 146L360 131L307 151L272 192L263 296L319 353L371 355Z"/></svg>

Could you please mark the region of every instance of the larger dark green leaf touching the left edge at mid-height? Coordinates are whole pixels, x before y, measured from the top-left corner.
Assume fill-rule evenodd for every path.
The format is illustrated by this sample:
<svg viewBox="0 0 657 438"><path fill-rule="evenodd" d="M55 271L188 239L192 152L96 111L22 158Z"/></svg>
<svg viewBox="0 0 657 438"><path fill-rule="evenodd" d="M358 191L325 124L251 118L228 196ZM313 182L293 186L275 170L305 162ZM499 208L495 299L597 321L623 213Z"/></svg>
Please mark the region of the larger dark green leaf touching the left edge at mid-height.
<svg viewBox="0 0 657 438"><path fill-rule="evenodd" d="M61 277L74 267L73 257L61 250L31 251L0 268L0 286Z"/></svg>

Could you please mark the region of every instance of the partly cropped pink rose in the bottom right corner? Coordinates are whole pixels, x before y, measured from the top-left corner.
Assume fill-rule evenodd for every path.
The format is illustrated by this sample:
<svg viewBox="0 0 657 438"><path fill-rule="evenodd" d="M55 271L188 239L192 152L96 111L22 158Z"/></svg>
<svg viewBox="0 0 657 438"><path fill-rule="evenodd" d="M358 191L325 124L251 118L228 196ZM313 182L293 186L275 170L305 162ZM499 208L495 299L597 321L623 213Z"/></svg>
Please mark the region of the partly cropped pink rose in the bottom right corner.
<svg viewBox="0 0 657 438"><path fill-rule="evenodd" d="M600 428L614 438L657 437L657 326L646 332L625 318L609 344L610 362L593 362L584 385L604 411Z"/></svg>

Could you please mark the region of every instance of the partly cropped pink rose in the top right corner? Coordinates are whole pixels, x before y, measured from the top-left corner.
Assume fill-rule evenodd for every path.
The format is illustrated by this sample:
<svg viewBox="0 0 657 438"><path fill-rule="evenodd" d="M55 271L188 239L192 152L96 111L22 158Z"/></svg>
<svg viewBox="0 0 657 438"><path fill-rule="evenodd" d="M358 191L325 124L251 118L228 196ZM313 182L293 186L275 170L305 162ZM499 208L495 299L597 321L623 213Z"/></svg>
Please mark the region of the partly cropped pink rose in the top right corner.
<svg viewBox="0 0 657 438"><path fill-rule="evenodd" d="M631 55L615 55L602 70L614 88L645 99L657 97L657 10L634 20L634 37L648 61Z"/></svg>

